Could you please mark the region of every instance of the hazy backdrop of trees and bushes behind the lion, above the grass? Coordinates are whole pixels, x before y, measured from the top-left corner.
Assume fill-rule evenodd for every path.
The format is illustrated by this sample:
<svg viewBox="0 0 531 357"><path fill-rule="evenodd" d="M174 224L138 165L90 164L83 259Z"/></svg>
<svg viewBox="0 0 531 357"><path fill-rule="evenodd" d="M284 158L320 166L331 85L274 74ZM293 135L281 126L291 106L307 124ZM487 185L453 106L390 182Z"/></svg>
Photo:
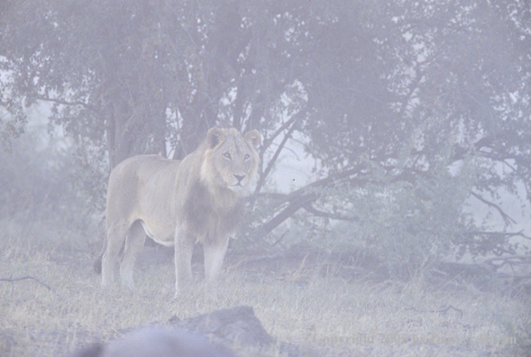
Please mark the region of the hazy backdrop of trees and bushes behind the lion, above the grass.
<svg viewBox="0 0 531 357"><path fill-rule="evenodd" d="M110 169L218 125L263 137L233 249L528 266L526 1L4 1L0 36L5 236L99 244Z"/></svg>

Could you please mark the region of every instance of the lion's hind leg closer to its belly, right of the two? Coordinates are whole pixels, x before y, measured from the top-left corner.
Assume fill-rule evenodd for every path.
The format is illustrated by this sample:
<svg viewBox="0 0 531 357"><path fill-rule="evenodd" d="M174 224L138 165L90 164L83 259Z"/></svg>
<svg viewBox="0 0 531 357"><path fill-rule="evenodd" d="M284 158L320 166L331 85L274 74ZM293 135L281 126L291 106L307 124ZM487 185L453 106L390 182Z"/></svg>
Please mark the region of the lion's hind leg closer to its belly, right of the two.
<svg viewBox="0 0 531 357"><path fill-rule="evenodd" d="M125 240L124 257L120 264L120 278L122 285L133 288L133 265L146 242L146 233L141 221L136 221L131 225Z"/></svg>

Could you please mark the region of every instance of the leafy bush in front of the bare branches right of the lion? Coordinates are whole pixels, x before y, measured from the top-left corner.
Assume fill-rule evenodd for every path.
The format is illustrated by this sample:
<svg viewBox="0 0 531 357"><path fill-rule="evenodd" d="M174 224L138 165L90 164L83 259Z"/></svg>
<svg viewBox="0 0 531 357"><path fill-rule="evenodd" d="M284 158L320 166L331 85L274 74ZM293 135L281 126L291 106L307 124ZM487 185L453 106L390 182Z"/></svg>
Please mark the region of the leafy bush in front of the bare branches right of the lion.
<svg viewBox="0 0 531 357"><path fill-rule="evenodd" d="M462 208L475 179L468 162L457 173L442 165L415 182L375 180L363 188L316 192L325 197L322 206L352 217L331 229L336 243L361 246L380 257L391 276L410 278L458 252L462 234L471 229Z"/></svg>

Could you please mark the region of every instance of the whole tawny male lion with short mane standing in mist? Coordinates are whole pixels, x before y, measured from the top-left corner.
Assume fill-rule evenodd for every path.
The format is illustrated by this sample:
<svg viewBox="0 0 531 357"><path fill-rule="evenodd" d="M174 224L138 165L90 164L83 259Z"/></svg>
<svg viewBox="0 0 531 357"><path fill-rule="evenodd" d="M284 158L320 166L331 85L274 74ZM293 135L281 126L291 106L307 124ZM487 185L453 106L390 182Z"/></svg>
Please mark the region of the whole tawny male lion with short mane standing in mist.
<svg viewBox="0 0 531 357"><path fill-rule="evenodd" d="M242 215L240 196L256 173L260 142L257 131L242 136L233 128L212 128L182 161L140 155L116 166L107 189L107 235L95 263L102 286L113 282L124 246L120 276L133 288L133 264L147 234L175 246L176 295L191 282L192 251L202 243L207 289L215 294L229 235Z"/></svg>

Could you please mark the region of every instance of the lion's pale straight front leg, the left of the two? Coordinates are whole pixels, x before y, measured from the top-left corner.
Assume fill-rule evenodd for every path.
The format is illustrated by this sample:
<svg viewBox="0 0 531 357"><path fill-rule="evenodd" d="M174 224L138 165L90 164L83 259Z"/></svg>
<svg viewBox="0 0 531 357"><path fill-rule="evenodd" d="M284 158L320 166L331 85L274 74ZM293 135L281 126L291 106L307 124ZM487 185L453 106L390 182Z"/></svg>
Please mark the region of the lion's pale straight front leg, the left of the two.
<svg viewBox="0 0 531 357"><path fill-rule="evenodd" d="M175 233L175 295L178 296L192 283L192 252L194 239L190 233Z"/></svg>

